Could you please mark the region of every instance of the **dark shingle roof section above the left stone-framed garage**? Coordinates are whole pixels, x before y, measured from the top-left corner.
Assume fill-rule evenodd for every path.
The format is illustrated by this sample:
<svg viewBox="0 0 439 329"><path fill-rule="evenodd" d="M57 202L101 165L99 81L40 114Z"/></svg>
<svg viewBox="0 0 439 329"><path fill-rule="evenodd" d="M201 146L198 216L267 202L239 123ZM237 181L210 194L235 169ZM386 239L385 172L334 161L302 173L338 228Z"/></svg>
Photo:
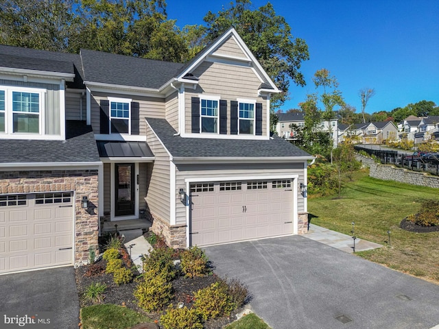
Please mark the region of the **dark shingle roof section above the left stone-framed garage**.
<svg viewBox="0 0 439 329"><path fill-rule="evenodd" d="M65 141L0 139L0 163L100 161L91 126L66 121Z"/></svg>

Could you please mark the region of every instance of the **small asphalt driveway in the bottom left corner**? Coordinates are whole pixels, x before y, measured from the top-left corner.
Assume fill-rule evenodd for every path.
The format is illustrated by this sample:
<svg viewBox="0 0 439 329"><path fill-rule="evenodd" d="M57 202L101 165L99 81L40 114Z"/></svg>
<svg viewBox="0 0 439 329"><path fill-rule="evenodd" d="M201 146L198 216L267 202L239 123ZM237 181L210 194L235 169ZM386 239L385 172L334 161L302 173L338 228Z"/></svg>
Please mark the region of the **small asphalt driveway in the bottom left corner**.
<svg viewBox="0 0 439 329"><path fill-rule="evenodd" d="M13 311L19 316L51 312L50 324L38 328L78 329L80 308L73 267L7 274L0 276L0 287L0 328L3 314Z"/></svg>

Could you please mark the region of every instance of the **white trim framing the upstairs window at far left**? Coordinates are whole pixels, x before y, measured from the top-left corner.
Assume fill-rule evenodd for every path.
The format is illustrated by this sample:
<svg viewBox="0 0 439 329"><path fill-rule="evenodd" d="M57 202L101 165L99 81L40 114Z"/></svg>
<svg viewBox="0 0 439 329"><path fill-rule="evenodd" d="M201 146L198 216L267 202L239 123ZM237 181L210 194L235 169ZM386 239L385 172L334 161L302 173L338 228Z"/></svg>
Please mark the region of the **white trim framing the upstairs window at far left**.
<svg viewBox="0 0 439 329"><path fill-rule="evenodd" d="M49 136L45 135L45 95L46 89L22 87L22 86L0 86L0 90L5 92L5 131L0 132L0 135L5 136L24 136L29 138L31 136ZM30 113L37 115L36 112L17 112L13 110L13 93L32 93L38 94L38 133L36 132L14 132L14 114ZM3 111L2 111L3 112Z"/></svg>

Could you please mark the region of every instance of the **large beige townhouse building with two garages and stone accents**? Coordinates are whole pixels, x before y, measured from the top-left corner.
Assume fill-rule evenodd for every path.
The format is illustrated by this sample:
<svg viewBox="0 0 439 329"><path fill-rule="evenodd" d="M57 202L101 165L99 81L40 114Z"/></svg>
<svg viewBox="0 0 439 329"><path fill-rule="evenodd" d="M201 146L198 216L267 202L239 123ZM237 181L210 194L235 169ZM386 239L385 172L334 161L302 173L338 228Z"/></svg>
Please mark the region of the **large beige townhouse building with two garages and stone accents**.
<svg viewBox="0 0 439 329"><path fill-rule="evenodd" d="M312 157L270 137L235 29L187 64L0 46L0 75L0 273L86 262L99 219L172 247L306 232Z"/></svg>

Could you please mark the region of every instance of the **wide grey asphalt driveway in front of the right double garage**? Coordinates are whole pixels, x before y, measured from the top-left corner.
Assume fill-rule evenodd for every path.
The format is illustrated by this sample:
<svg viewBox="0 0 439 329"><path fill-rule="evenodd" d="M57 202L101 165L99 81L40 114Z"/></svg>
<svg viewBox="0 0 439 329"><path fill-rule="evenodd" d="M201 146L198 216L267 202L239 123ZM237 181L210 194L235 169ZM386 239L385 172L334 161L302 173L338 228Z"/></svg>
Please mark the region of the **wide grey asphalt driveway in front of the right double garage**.
<svg viewBox="0 0 439 329"><path fill-rule="evenodd" d="M429 329L439 286L304 236L205 247L219 276L248 284L273 329Z"/></svg>

